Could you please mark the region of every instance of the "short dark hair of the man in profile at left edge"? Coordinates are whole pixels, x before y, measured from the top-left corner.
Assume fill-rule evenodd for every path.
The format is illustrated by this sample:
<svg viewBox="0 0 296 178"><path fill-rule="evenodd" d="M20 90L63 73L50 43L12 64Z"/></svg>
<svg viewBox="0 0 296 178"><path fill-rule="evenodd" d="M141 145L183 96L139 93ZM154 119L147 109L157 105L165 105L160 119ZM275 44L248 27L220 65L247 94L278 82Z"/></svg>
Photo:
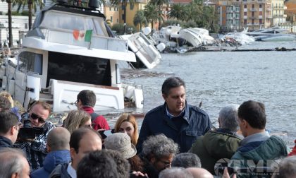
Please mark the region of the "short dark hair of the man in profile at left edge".
<svg viewBox="0 0 296 178"><path fill-rule="evenodd" d="M18 117L12 112L0 112L0 135L5 135L11 126L18 125Z"/></svg>

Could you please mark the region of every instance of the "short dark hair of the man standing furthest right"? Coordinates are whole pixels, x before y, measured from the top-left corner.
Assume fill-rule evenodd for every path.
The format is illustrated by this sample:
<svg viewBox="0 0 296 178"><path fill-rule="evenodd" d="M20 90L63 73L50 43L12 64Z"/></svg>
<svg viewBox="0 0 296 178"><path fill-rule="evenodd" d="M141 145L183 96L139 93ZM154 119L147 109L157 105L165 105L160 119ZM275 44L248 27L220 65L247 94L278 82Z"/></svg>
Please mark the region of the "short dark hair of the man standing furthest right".
<svg viewBox="0 0 296 178"><path fill-rule="evenodd" d="M245 119L254 129L265 129L265 107L261 102L253 100L243 102L238 108L238 117L240 119Z"/></svg>

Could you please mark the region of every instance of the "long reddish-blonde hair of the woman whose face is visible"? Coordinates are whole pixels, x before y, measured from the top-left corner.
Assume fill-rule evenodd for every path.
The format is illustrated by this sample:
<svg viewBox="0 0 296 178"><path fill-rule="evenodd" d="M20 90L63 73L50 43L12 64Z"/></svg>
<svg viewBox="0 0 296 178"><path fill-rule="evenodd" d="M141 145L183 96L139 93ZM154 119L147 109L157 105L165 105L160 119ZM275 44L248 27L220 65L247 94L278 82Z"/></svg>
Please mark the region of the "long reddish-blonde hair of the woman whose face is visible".
<svg viewBox="0 0 296 178"><path fill-rule="evenodd" d="M137 131L137 121L136 121L135 117L132 116L132 114L122 114L121 117L118 118L118 120L116 121L116 124L115 124L115 128L114 128L115 132L119 131L123 121L128 121L128 122L130 122L130 124L132 124L132 126L134 126L135 131L132 134L132 138L130 138L130 141L132 142L132 144L137 145L137 138L139 138L139 133Z"/></svg>

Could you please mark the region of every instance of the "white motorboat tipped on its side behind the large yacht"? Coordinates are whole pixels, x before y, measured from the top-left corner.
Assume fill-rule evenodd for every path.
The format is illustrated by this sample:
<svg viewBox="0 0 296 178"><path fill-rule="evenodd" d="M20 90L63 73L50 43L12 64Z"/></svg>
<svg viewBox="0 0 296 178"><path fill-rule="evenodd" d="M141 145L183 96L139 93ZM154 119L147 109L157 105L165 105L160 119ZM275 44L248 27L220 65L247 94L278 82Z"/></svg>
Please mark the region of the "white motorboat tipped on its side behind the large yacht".
<svg viewBox="0 0 296 178"><path fill-rule="evenodd" d="M161 54L154 44L142 33L136 32L132 35L121 35L125 40L128 40L128 47L135 53L137 62L131 62L136 68L152 69L161 60Z"/></svg>

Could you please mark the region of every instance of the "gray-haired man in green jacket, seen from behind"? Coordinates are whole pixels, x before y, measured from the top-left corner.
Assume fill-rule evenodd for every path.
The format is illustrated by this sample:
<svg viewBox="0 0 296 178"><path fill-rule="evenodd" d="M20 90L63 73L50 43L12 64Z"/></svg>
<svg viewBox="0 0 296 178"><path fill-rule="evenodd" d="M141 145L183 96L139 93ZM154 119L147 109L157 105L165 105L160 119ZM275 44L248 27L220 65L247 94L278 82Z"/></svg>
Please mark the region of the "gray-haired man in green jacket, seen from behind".
<svg viewBox="0 0 296 178"><path fill-rule="evenodd" d="M202 162L202 167L215 174L214 166L221 158L230 159L239 147L241 141L238 131L239 105L227 105L219 112L219 128L209 131L197 138L189 150L195 153Z"/></svg>

